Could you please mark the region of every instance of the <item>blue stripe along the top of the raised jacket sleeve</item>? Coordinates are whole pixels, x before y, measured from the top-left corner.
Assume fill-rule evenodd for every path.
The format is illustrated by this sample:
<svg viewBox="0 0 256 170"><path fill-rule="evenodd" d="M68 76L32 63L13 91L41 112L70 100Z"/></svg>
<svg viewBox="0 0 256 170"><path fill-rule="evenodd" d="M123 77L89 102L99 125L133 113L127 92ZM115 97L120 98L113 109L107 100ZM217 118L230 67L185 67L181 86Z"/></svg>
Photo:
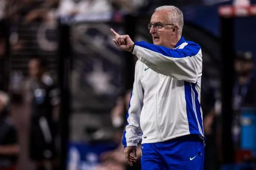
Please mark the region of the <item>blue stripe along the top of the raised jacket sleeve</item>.
<svg viewBox="0 0 256 170"><path fill-rule="evenodd" d="M190 42L188 45L186 45L183 49L171 49L159 45L149 44L144 41L135 42L135 45L147 48L151 51L155 51L157 53L160 53L167 57L173 57L173 58L184 58L184 57L192 57L198 54L198 51L201 49L201 47L196 44L195 42Z"/></svg>

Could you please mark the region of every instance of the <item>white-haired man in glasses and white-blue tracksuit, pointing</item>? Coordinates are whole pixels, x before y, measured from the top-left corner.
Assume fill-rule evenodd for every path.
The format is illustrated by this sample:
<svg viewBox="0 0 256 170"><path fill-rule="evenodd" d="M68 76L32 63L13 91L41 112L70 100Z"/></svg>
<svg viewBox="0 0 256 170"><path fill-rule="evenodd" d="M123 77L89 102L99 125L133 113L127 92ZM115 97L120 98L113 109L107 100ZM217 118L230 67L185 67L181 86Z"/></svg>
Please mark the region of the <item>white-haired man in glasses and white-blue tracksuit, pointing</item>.
<svg viewBox="0 0 256 170"><path fill-rule="evenodd" d="M182 28L182 12L161 6L148 23L154 44L111 29L113 42L138 57L123 144L132 166L142 139L143 170L203 170L202 53L181 36Z"/></svg>

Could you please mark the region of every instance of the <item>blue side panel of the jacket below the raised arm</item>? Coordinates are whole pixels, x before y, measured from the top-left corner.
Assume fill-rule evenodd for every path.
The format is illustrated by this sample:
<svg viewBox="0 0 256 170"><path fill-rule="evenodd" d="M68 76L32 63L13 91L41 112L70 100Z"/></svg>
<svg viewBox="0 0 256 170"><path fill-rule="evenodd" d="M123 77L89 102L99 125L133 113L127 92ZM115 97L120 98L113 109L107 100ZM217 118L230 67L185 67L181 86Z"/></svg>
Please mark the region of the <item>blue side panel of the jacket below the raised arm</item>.
<svg viewBox="0 0 256 170"><path fill-rule="evenodd" d="M189 122L189 132L190 134L200 135L198 129L198 123L195 117L195 112L193 110L192 95L191 95L191 85L189 82L184 81L185 99L186 99L186 112Z"/></svg>

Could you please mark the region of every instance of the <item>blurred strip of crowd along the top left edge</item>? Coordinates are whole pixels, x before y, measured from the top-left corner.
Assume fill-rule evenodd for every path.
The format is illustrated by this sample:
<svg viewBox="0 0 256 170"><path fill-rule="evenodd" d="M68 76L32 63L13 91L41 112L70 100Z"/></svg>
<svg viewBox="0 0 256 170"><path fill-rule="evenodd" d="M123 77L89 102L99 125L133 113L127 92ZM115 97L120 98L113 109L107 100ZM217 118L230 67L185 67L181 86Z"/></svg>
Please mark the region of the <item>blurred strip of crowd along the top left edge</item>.
<svg viewBox="0 0 256 170"><path fill-rule="evenodd" d="M120 11L132 13L148 4L148 0L1 0L0 17L29 23L47 21L60 16Z"/></svg>

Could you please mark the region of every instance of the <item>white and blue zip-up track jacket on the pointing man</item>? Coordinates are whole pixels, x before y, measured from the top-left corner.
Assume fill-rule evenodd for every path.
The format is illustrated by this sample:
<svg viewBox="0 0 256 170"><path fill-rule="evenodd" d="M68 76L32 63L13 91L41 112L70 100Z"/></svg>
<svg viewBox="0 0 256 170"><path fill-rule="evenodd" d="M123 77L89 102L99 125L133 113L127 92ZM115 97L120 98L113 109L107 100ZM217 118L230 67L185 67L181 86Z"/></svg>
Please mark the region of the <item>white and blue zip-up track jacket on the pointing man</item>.
<svg viewBox="0 0 256 170"><path fill-rule="evenodd" d="M202 53L183 37L170 49L135 42L138 57L123 133L124 146L163 142L179 136L204 137L200 105Z"/></svg>

